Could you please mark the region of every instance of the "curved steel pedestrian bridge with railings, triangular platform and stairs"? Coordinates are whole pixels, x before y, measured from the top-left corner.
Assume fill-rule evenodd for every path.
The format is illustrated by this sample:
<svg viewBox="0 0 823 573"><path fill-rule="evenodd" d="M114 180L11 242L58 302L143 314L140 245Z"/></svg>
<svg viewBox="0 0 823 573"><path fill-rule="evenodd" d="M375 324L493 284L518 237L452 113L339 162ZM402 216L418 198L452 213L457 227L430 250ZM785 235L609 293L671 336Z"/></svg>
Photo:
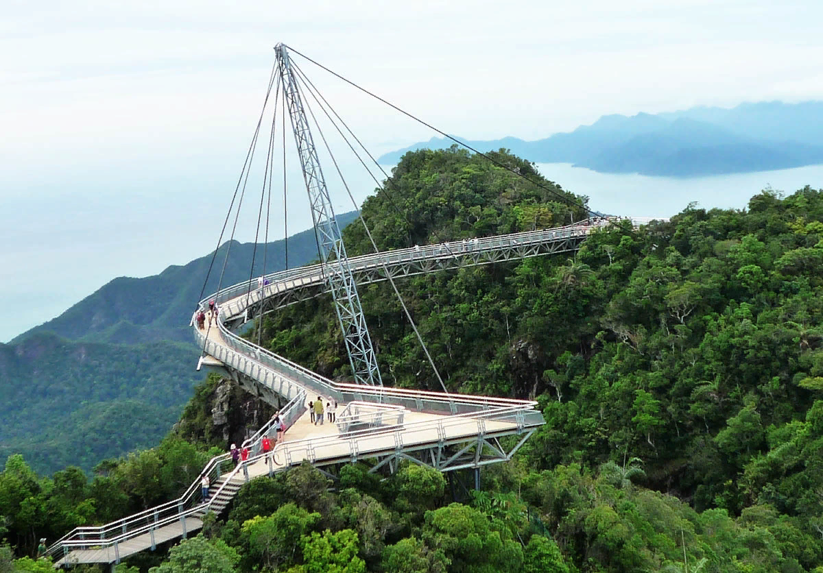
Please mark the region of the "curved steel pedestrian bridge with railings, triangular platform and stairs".
<svg viewBox="0 0 823 573"><path fill-rule="evenodd" d="M651 219L631 219L634 226ZM573 252L593 229L607 219L529 233L514 233L349 259L358 283L420 275L461 266L491 264L560 252ZM250 478L274 474L308 461L330 477L338 464L370 460L370 471L394 471L403 460L441 471L478 469L510 460L514 452L544 423L533 400L445 394L382 386L337 383L273 354L236 334L261 312L328 292L323 266L284 270L245 281L204 298L219 307L219 320L202 330L192 320L195 339L203 349L198 369L221 371L246 390L280 406L286 432L274 450L261 451L263 436L275 437L271 422L244 442L252 455L232 467L230 455L212 459L202 474L176 500L100 527L73 530L49 548L55 566L72 563L119 563L158 543L187 537L202 527L208 511L219 513ZM309 400L336 401L337 419L311 422ZM324 414L325 415L325 414ZM242 446L241 446L242 447ZM202 476L211 478L203 498Z"/></svg>

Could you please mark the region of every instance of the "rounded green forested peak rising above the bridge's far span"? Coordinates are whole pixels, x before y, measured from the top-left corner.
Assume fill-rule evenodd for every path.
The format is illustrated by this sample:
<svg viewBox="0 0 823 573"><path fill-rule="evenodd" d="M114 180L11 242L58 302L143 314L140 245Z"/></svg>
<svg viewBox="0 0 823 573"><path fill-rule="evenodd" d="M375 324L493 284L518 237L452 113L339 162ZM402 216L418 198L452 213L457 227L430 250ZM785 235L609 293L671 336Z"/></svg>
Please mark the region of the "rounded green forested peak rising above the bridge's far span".
<svg viewBox="0 0 823 573"><path fill-rule="evenodd" d="M380 250L546 229L587 215L586 198L542 177L508 150L452 146L409 151L361 208ZM361 224L344 233L350 254L372 252Z"/></svg>

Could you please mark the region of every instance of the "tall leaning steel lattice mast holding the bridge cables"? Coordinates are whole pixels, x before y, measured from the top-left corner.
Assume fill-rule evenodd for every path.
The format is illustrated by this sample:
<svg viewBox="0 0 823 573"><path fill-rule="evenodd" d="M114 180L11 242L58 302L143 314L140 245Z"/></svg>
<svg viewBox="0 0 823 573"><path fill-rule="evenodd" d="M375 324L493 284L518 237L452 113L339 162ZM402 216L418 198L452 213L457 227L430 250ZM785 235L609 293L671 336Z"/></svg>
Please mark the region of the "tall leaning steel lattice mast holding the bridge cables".
<svg viewBox="0 0 823 573"><path fill-rule="evenodd" d="M334 308L343 331L343 339L346 341L351 371L354 372L355 381L359 384L383 386L377 367L377 356L374 354L369 329L365 324L363 308L360 306L360 297L357 295L357 286L346 256L340 227L334 217L323 170L320 169L317 148L309 131L309 120L305 114L295 73L291 68L288 49L285 44L277 44L275 52L283 93L289 107L291 128L295 132L297 153L300 155L300 165L303 168L303 179L306 191L309 192L320 261L334 298Z"/></svg>

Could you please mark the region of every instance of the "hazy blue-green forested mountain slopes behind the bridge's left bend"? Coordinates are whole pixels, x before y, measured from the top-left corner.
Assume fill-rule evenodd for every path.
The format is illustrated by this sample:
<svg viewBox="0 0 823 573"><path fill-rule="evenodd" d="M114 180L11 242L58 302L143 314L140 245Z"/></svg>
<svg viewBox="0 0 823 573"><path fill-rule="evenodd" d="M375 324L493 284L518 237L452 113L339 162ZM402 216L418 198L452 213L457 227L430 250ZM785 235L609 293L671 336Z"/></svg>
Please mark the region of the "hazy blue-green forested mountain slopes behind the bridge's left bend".
<svg viewBox="0 0 823 573"><path fill-rule="evenodd" d="M337 217L341 227L356 217ZM314 230L288 239L289 266L318 258ZM0 464L21 452L50 474L67 465L86 471L111 457L155 446L202 381L188 321L204 290L263 272L263 245L227 242L212 254L160 275L120 277L40 326L0 344ZM266 272L285 268L286 242L267 245Z"/></svg>

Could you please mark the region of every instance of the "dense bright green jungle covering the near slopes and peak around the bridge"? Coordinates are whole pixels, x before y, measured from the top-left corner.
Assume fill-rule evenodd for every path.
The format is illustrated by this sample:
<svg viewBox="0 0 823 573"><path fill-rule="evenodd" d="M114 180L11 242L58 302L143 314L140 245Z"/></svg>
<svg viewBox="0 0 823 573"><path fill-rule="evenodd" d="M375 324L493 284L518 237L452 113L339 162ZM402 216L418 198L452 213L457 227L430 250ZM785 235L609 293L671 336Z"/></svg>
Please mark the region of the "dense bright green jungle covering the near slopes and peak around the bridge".
<svg viewBox="0 0 823 573"><path fill-rule="evenodd" d="M495 159L539 177L503 151ZM458 150L407 154L363 206L380 248L581 212ZM360 229L345 234L351 255L370 250ZM364 464L329 490L300 466L253 480L202 536L119 571L821 572L821 238L823 193L766 191L746 210L689 206L639 230L616 224L576 255L398 281L449 390L539 401L546 425L516 459L483 469L481 492L416 465L381 480ZM438 389L390 286L360 298L384 381ZM269 348L346 377L328 300L262 327ZM38 478L9 458L0 525L18 568L39 571L21 556L42 535L191 483L209 453L181 436L207 434L209 387L179 433L98 465L91 481L72 468Z"/></svg>

